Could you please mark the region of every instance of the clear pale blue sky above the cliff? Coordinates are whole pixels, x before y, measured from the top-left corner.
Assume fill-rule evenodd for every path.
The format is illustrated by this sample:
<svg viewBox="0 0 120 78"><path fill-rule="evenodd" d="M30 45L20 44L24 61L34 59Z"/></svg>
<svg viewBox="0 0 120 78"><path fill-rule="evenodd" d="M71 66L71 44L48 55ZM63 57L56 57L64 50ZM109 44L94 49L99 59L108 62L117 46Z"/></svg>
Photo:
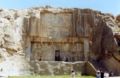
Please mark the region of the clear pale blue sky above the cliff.
<svg viewBox="0 0 120 78"><path fill-rule="evenodd" d="M24 9L35 6L91 8L114 15L120 14L120 0L0 0L0 8Z"/></svg>

